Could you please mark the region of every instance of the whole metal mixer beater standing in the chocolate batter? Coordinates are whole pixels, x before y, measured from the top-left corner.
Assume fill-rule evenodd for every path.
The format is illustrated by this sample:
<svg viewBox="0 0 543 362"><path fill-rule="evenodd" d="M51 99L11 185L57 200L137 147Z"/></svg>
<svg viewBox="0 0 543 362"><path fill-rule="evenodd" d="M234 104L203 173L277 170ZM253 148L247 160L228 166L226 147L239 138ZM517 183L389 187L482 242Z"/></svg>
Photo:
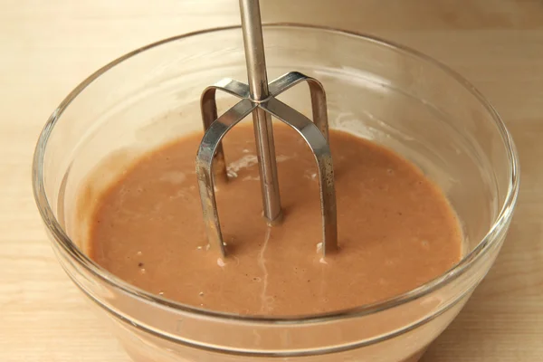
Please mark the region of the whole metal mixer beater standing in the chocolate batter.
<svg viewBox="0 0 543 362"><path fill-rule="evenodd" d="M271 116L298 131L310 146L319 168L322 252L325 256L338 248L338 229L324 88L319 81L297 71L291 71L268 84L259 0L240 0L240 10L249 84L224 79L207 87L201 98L205 134L196 156L196 175L210 248L220 252L223 257L226 256L214 195L214 176L227 177L221 140L233 126L252 113L260 167L263 214L269 224L281 222L282 217ZM302 81L308 82L310 86L313 122L275 98ZM241 99L220 117L217 117L216 90L222 90ZM218 169L213 172L212 167Z"/></svg>

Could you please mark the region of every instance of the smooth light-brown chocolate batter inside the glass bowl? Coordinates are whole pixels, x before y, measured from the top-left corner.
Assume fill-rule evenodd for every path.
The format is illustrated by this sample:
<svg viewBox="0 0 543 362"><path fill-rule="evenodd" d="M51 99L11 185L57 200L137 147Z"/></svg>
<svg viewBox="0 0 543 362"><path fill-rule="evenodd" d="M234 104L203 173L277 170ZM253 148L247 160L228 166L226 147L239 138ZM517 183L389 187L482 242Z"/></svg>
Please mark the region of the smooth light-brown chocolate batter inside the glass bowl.
<svg viewBox="0 0 543 362"><path fill-rule="evenodd" d="M201 134L134 164L96 205L90 256L146 291L210 310L300 315L385 300L458 262L462 235L441 191L386 148L330 131L340 250L320 258L319 182L309 148L274 128L284 221L269 227L252 128L224 140L231 180L217 186L224 260L206 251L195 176Z"/></svg>

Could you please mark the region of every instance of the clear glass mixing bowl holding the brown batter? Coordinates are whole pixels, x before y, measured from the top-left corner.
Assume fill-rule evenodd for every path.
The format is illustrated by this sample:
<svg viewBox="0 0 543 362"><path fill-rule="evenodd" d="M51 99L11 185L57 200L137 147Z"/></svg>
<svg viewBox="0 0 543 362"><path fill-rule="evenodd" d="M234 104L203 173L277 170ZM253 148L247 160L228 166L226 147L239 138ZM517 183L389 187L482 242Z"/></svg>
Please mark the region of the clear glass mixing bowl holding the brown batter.
<svg viewBox="0 0 543 362"><path fill-rule="evenodd" d="M392 300L272 319L177 304L90 260L90 213L81 205L134 157L201 129L198 100L207 85L246 80L242 33L230 27L130 52L83 81L52 113L35 151L33 189L59 262L136 361L416 361L500 251L519 190L510 134L472 85L417 52L300 25L267 26L264 38L270 79L301 71L322 81L331 128L394 149L443 188L462 222L462 261ZM281 99L310 114L303 87ZM219 100L222 107L232 102Z"/></svg>

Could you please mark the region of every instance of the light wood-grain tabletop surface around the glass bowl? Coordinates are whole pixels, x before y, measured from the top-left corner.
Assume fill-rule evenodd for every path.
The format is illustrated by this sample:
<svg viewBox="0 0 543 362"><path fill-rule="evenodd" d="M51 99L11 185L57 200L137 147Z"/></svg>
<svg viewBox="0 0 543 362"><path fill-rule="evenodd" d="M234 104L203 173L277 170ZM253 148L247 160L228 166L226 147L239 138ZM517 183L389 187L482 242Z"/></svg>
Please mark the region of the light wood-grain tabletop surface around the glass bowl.
<svg viewBox="0 0 543 362"><path fill-rule="evenodd" d="M52 255L30 185L33 146L52 110L90 72L161 38L236 24L236 4L1 2L1 361L128 361ZM487 279L424 362L543 361L543 3L262 0L262 11L267 21L405 43L461 72L491 100L519 148L518 211Z"/></svg>

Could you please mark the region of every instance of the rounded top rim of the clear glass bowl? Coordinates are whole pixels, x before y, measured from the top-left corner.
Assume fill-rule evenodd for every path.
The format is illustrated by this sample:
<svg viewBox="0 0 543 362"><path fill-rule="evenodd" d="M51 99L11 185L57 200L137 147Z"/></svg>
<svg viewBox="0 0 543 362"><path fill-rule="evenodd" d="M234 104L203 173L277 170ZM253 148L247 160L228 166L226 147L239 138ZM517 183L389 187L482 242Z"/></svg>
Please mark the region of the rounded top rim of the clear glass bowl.
<svg viewBox="0 0 543 362"><path fill-rule="evenodd" d="M152 48L156 48L160 45L166 43L176 42L178 40L186 39L189 37L194 37L198 35L205 35L209 33L218 33L231 31L234 29L240 29L240 25L229 25L222 27L208 28L204 30L199 30L191 33L184 33L169 37L167 39L160 40L155 43L150 43L148 45L142 46L132 52L128 52L116 60L104 65L98 71L93 72L87 77L84 81L75 87L71 92L62 100L61 104L52 112L52 115L45 123L43 130L38 138L36 147L34 149L33 155L33 196L34 201L38 207L38 210L42 216L43 222L49 233L52 234L54 242L57 243L62 249L67 252L71 259L75 260L81 267L86 271L90 272L92 275L98 277L101 281L105 281L110 284L113 288L128 293L131 297L134 297L138 300L147 300L153 303L156 303L158 306L166 307L167 309L174 309L186 313L190 313L195 316L212 318L212 319L228 319L230 321L242 322L242 323L264 323L264 324L310 324L310 323L320 323L337 319L345 318L357 318L366 316L368 314L374 314L380 311L389 310L396 306L403 305L413 300L417 300L425 295L436 291L437 289L442 288L443 286L449 284L450 282L459 278L464 272L468 271L474 263L481 259L483 255L486 254L488 250L491 249L491 246L494 243L498 243L499 238L497 234L510 223L514 207L517 202L519 195L519 157L515 144L510 136L510 132L503 123L500 115L494 108L491 106L491 103L485 99L479 90L477 90L472 83L465 80L459 73L452 71L449 67L445 66L442 62L438 62L431 58L430 56L425 55L422 52L415 51L404 45L389 42L384 39L378 38L373 35L358 33L353 31L341 30L338 28L320 26L320 25L310 25L310 24L296 24L296 23L270 23L264 24L264 28L291 28L298 30L310 30L315 32L324 32L324 33L333 33L336 35L357 38L358 40L363 40L369 43L375 43L377 45L386 47L395 52L403 53L418 59L421 62L428 63L434 67L439 68L441 71L446 73L452 78L452 80L460 83L466 90L468 90L472 95L481 102L481 105L489 113L491 119L493 119L495 125L500 131L500 136L503 140L503 143L506 147L506 153L510 160L510 184L507 190L507 195L504 199L503 205L500 209L500 213L496 217L494 223L492 224L489 231L481 239L475 248L468 254L462 257L462 260L452 266L451 269L445 271L442 275L437 278L434 278L432 281L427 281L423 285L415 288L414 290L407 291L403 294L397 295L393 298L379 301L376 303L371 303L355 308L350 308L347 310L338 310L328 313L313 314L313 315L301 315L301 316L244 316L233 313L226 313L221 311L214 310L204 310L195 308L183 303L179 303L173 300L167 300L158 295L150 293L148 291L143 291L126 281L122 281L119 277L106 271L101 268L96 262L93 262L89 256L87 256L81 249L73 242L71 238L62 230L61 224L57 221L56 217L52 212L52 207L49 203L47 195L45 193L43 185L43 158L45 155L48 139L52 134L55 124L59 121L64 110L66 110L71 101L74 100L78 95L81 94L87 86L92 83L92 81L97 80L100 75L109 71L111 68L119 65L121 62L132 58L140 52L148 51ZM103 305L103 307L106 307ZM106 307L107 308L107 307Z"/></svg>

